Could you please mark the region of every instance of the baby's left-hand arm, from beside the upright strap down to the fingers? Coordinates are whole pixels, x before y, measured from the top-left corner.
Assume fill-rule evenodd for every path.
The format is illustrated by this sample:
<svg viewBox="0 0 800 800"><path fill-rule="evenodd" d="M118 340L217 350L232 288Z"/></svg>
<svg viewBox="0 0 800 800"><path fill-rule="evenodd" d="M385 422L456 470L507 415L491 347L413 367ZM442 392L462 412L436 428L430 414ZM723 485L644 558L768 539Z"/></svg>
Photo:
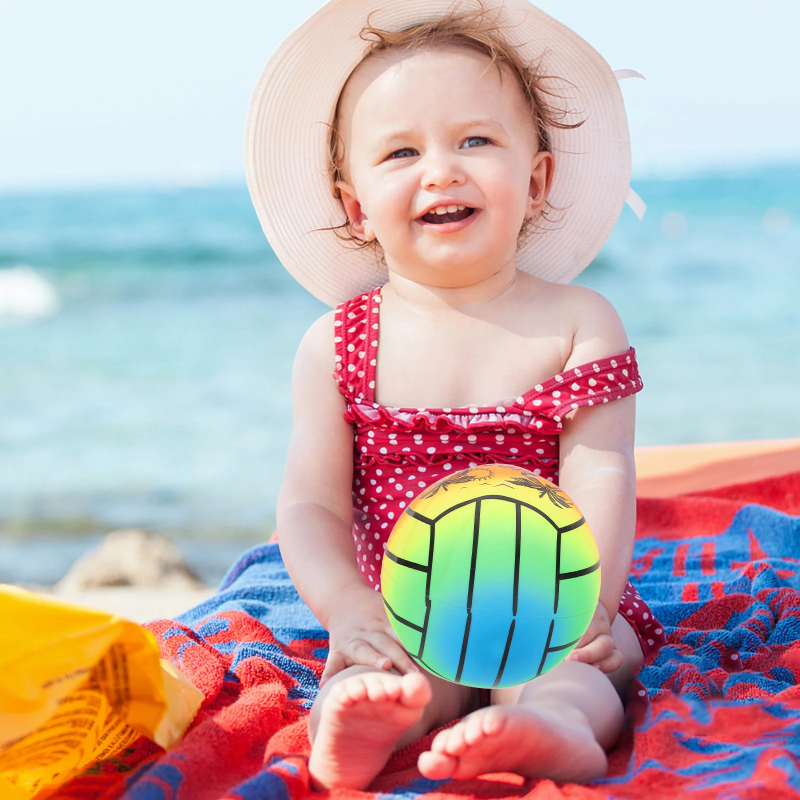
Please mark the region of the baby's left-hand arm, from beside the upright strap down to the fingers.
<svg viewBox="0 0 800 800"><path fill-rule="evenodd" d="M356 566L352 536L353 428L331 373L333 313L310 327L294 362L294 426L281 492L278 536L300 596L330 631L323 682L353 664L414 669L391 630L381 594Z"/></svg>

